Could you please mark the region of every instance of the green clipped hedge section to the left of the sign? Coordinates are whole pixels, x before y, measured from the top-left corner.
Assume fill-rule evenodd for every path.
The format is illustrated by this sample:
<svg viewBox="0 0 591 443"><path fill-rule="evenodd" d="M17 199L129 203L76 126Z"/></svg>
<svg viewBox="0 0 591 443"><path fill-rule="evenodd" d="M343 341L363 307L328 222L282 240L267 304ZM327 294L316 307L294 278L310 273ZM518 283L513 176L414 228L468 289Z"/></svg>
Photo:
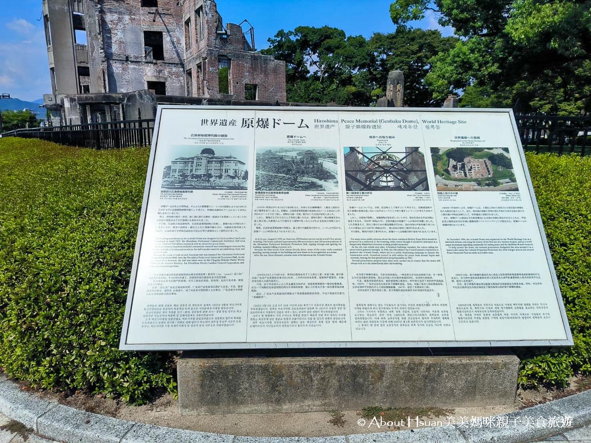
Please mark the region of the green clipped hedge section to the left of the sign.
<svg viewBox="0 0 591 443"><path fill-rule="evenodd" d="M170 353L118 350L149 149L0 139L0 365L34 387L142 403Z"/></svg>

